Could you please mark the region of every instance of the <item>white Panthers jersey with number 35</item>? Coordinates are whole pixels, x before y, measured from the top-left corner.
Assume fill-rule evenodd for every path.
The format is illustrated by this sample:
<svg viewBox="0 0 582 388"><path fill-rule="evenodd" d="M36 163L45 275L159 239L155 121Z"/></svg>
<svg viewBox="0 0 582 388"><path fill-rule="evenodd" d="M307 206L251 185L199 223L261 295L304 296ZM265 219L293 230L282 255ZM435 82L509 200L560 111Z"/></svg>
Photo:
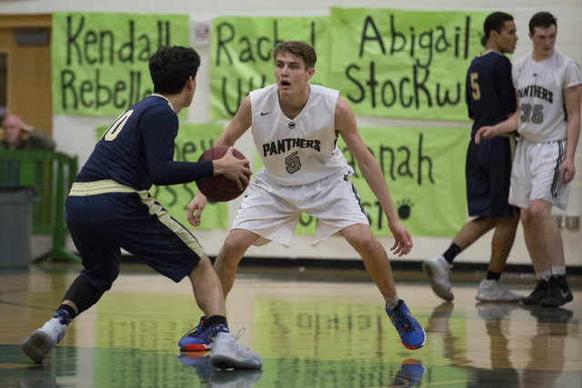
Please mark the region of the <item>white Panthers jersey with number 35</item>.
<svg viewBox="0 0 582 388"><path fill-rule="evenodd" d="M531 53L512 68L519 102L517 132L530 142L553 142L567 138L564 89L582 84L577 63L557 51L541 62Z"/></svg>

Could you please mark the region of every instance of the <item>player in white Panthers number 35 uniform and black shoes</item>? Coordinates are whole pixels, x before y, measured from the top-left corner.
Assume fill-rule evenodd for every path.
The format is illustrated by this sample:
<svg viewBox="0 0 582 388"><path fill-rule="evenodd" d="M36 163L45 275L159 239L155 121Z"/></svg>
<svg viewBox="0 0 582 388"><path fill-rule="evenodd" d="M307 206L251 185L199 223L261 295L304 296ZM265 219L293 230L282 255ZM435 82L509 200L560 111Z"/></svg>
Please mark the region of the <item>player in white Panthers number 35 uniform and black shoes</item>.
<svg viewBox="0 0 582 388"><path fill-rule="evenodd" d="M519 133L509 204L521 208L527 251L537 276L536 289L522 300L557 307L570 302L562 237L552 206L566 210L576 174L574 155L580 134L582 74L579 66L554 49L557 19L540 12L529 21L533 52L517 60L512 77L518 109L506 121L484 126L476 135Z"/></svg>

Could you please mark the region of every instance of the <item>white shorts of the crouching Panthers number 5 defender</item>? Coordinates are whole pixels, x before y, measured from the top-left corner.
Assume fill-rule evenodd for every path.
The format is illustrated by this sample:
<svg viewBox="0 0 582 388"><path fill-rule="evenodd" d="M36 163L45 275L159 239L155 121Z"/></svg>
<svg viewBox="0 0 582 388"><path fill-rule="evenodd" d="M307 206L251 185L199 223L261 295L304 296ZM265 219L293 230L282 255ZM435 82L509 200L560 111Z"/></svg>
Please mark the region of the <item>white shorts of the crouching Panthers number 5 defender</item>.
<svg viewBox="0 0 582 388"><path fill-rule="evenodd" d="M313 184L284 186L270 180L264 169L248 186L232 229L259 234L255 245L274 241L288 247L301 212L317 218L312 246L352 224L368 224L356 187L346 171Z"/></svg>

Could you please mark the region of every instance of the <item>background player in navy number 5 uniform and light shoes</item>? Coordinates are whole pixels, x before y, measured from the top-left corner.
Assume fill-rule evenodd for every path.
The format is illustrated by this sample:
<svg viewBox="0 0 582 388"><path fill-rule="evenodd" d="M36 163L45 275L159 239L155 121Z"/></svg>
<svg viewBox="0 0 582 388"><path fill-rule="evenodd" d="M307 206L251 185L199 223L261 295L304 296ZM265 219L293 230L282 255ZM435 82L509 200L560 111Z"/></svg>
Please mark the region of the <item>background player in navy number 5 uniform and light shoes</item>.
<svg viewBox="0 0 582 388"><path fill-rule="evenodd" d="M500 281L519 224L519 209L507 203L515 136L474 142L478 128L500 123L516 112L511 63L504 55L516 49L516 25L513 16L494 12L485 19L483 29L485 51L471 62L466 82L468 114L473 119L465 170L467 207L469 216L477 218L463 226L444 254L426 260L423 269L433 291L452 301L449 271L457 254L495 228L487 276L479 284L477 300L517 302L521 296Z"/></svg>

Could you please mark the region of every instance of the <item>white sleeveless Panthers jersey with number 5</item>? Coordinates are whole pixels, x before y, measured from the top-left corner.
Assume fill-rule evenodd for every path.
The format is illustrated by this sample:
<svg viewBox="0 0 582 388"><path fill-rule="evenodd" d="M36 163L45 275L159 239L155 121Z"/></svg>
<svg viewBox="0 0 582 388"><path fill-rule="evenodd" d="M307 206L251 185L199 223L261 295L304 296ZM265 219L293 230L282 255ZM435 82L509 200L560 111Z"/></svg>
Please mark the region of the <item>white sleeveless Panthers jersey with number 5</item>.
<svg viewBox="0 0 582 388"><path fill-rule="evenodd" d="M309 88L307 104L294 119L281 111L277 85L250 93L251 133L266 174L276 184L311 184L347 167L336 145L339 92L320 85Z"/></svg>

